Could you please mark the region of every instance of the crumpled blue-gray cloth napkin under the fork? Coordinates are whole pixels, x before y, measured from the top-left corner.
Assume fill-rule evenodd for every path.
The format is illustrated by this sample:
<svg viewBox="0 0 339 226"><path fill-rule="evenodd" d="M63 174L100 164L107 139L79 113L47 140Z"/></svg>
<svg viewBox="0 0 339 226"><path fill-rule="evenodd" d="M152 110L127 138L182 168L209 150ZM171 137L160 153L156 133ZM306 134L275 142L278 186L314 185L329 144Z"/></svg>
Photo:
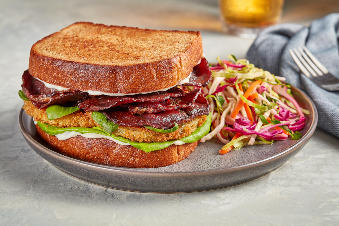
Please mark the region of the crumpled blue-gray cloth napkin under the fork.
<svg viewBox="0 0 339 226"><path fill-rule="evenodd" d="M339 91L330 92L309 80L292 59L288 49L306 46L308 50L339 78L339 13L312 21L310 27L284 23L264 29L247 52L256 67L286 78L286 82L303 90L318 110L318 127L339 137Z"/></svg>

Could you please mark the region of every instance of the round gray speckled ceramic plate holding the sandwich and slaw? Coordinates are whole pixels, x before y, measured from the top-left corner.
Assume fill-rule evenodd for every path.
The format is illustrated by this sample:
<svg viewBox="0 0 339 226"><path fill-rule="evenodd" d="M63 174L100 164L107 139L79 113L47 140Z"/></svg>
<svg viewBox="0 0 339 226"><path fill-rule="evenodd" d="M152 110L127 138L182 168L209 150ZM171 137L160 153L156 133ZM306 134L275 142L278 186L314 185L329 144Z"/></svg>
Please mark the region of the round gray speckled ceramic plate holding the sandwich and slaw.
<svg viewBox="0 0 339 226"><path fill-rule="evenodd" d="M311 111L298 141L246 146L219 155L222 143L200 143L185 160L161 168L124 168L100 165L67 157L45 145L36 135L33 120L20 111L19 126L25 140L42 158L81 180L129 191L193 192L223 188L259 178L295 156L311 138L318 120L314 103L299 89L293 95L302 108Z"/></svg>

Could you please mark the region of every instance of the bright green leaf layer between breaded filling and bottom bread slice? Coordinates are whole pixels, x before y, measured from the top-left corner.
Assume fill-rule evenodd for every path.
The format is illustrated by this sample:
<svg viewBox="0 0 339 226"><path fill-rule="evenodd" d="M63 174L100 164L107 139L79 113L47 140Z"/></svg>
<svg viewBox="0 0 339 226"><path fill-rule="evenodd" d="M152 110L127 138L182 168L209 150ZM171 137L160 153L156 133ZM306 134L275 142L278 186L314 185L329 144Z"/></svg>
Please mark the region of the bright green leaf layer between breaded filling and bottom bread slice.
<svg viewBox="0 0 339 226"><path fill-rule="evenodd" d="M202 124L200 127L198 127L196 130L194 130L191 135L186 136L180 141L185 142L185 143L193 143L196 142L197 140L200 140L203 136L205 136L209 131L211 127L211 122L212 122L212 115L207 116L207 120ZM109 135L106 131L101 129L100 127L93 127L93 128L84 128L84 127L68 127L68 128L61 128L57 126L50 126L47 123L41 123L38 121L38 125L40 128L48 133L51 136L55 136L57 134L66 132L66 131L75 131L75 132L80 132L80 133L98 133L104 136L109 136L112 137L113 139L131 144L133 147L136 147L140 150L143 150L145 152L150 152L154 150L161 150L169 145L172 145L175 141L179 140L170 140L170 141L164 141L164 142L153 142L153 143L144 143L144 142L138 142L138 141L131 141L129 139L123 138L121 136L116 136L114 134Z"/></svg>

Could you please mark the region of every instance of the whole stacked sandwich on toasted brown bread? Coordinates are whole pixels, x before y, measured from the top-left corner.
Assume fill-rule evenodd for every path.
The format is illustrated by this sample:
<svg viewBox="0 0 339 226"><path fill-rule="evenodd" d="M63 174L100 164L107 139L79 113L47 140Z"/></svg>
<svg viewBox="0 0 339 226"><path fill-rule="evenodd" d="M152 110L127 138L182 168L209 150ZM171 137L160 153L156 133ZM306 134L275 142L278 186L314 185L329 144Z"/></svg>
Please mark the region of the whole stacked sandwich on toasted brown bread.
<svg viewBox="0 0 339 226"><path fill-rule="evenodd" d="M74 23L36 42L22 75L37 135L76 159L175 164L211 127L200 32Z"/></svg>

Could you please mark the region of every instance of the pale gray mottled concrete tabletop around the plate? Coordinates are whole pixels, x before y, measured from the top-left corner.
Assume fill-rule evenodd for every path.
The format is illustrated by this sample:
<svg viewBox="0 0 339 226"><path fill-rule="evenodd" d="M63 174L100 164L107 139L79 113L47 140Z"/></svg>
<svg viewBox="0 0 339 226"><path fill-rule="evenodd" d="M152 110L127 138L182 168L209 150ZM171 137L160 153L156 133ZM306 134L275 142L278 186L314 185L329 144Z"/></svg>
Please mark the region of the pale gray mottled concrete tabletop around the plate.
<svg viewBox="0 0 339 226"><path fill-rule="evenodd" d="M17 93L37 40L76 21L201 28L207 60L244 57L253 40L216 32L217 18L216 1L208 0L1 0L0 225L339 225L339 139L320 129L294 158L264 177L181 194L129 192L78 180L24 141Z"/></svg>

